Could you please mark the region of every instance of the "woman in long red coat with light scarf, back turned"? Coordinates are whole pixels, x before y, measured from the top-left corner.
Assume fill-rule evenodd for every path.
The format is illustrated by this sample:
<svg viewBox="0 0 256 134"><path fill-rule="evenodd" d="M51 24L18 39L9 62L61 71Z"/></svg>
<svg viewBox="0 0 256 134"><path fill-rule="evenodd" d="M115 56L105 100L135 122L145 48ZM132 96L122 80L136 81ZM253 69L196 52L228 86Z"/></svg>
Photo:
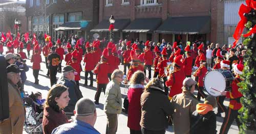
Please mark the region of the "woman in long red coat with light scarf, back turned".
<svg viewBox="0 0 256 134"><path fill-rule="evenodd" d="M130 79L130 87L128 89L128 123L131 134L141 133L140 118L141 118L141 105L140 97L144 90L145 75L142 71L136 71Z"/></svg>

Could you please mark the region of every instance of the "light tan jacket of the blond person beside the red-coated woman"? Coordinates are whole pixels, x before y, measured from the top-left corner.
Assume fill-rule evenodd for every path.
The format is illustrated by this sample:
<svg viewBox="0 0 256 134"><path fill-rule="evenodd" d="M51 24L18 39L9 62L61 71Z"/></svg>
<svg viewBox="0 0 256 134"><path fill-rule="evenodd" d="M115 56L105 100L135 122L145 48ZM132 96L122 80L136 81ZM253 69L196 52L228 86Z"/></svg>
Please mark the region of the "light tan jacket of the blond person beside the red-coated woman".
<svg viewBox="0 0 256 134"><path fill-rule="evenodd" d="M122 110L122 95L120 83L112 80L106 85L104 112L108 114L120 114Z"/></svg>

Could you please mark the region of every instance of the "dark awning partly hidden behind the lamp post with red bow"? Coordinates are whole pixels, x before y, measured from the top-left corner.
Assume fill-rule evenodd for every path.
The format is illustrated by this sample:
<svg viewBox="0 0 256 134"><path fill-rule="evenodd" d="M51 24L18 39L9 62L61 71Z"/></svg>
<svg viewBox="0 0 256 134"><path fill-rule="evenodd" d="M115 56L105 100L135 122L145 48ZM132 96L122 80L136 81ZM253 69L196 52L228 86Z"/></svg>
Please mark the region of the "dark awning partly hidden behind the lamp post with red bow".
<svg viewBox="0 0 256 134"><path fill-rule="evenodd" d="M118 32L123 30L130 22L130 19L115 19L115 29L113 31ZM102 20L94 29L91 30L91 32L109 32L109 26L109 20Z"/></svg>

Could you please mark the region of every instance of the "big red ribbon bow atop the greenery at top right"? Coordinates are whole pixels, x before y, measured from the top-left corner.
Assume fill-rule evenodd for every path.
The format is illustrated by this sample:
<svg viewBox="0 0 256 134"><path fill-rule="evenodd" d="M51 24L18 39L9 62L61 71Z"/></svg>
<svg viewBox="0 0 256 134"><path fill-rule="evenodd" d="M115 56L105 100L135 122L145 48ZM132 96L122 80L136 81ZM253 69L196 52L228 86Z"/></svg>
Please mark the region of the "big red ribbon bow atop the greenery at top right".
<svg viewBox="0 0 256 134"><path fill-rule="evenodd" d="M233 46L232 48L234 48L236 45L237 45L237 42L239 40L239 38L241 37L241 34L244 30L244 25L247 23L247 19L246 17L244 16L244 14L246 13L249 13L251 11L251 9L254 9L256 10L256 1L254 0L246 0L246 5L245 6L244 4L242 4L240 6L240 9L238 11L238 14L241 18L241 20L238 22L238 25L237 25L237 28L236 30L234 31L234 34L233 34L233 38L234 38L234 42L233 42ZM247 34L244 35L244 37L248 37L250 36L251 34L253 33L256 33L256 26L254 25L253 28L251 29L251 31Z"/></svg>

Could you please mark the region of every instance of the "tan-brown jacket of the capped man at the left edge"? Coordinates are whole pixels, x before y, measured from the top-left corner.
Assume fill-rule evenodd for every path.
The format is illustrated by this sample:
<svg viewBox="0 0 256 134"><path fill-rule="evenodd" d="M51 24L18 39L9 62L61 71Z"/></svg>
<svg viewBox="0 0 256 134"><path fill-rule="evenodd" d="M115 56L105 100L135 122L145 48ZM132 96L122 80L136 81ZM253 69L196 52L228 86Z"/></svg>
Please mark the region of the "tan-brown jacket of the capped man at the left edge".
<svg viewBox="0 0 256 134"><path fill-rule="evenodd" d="M9 91L9 119L0 123L0 133L22 134L25 121L23 100L20 92L11 81L8 81Z"/></svg>

